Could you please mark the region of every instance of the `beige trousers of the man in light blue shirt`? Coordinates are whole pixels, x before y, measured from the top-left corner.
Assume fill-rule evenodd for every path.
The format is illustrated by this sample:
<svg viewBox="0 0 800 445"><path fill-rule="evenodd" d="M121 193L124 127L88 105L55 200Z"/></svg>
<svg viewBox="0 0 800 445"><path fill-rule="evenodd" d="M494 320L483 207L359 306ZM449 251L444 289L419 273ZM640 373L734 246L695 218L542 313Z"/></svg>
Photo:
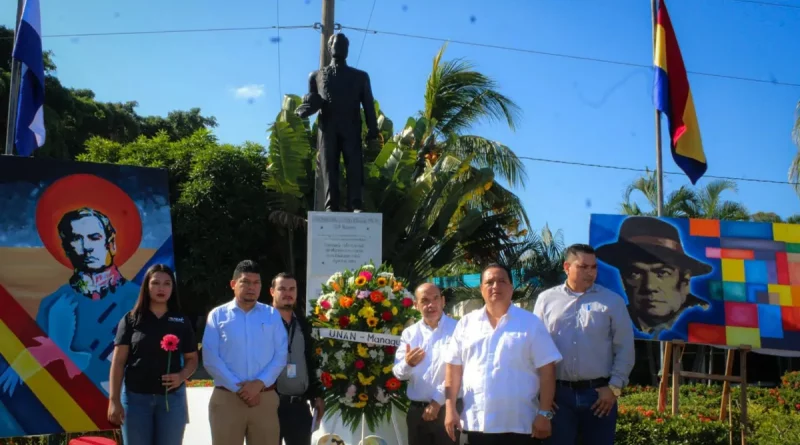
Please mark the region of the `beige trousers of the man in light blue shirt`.
<svg viewBox="0 0 800 445"><path fill-rule="evenodd" d="M280 445L278 404L274 390L261 393L261 403L249 407L236 393L214 388L208 402L213 445Z"/></svg>

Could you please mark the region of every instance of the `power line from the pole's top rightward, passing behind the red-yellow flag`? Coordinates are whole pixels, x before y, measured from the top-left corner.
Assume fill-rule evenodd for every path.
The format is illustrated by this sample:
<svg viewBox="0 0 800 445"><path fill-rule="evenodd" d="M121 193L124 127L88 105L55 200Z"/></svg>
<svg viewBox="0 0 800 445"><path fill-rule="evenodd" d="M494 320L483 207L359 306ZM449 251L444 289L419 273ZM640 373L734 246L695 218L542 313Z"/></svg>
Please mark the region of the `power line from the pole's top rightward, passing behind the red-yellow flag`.
<svg viewBox="0 0 800 445"><path fill-rule="evenodd" d="M563 59L572 59L572 60L581 60L584 62L597 62L597 63L606 63L609 65L620 65L620 66L630 66L636 68L648 68L652 69L652 65L645 65L642 63L635 63L635 62L624 62L620 60L610 60L610 59L601 59L597 57L588 57L588 56L576 56L573 54L565 54L565 53L555 53L555 52L548 52L548 51L539 51L534 49L526 49L526 48L515 48L511 46L503 46L503 45L494 45L489 43L479 43L479 42L469 42L466 40L453 40L453 39L443 39L441 37L432 37L432 36L423 36L418 34L408 34L402 32L394 32L394 31L380 31L377 29L366 29L366 28L358 28L355 26L345 26L342 25L343 29L352 29L354 31L364 31L364 33L371 32L373 34L385 34L390 36L396 37L407 37L412 39L419 39L419 40L432 40L436 42L448 42L448 43L456 43L460 45L466 46L475 46L481 48L492 48L492 49L501 49L505 51L514 51L519 53L526 53L526 54L536 54L540 56L550 56L550 57L559 57ZM716 74L716 73L704 73L700 71L688 71L689 74L695 74L698 76L707 76L707 77L716 77L721 79L731 79L731 80L740 80L743 82L754 82L754 83L766 83L772 85L781 85L787 87L798 87L800 88L800 83L793 83L793 82L780 82L778 80L764 80L764 79L756 79L752 77L742 77L742 76L732 76L727 74Z"/></svg>

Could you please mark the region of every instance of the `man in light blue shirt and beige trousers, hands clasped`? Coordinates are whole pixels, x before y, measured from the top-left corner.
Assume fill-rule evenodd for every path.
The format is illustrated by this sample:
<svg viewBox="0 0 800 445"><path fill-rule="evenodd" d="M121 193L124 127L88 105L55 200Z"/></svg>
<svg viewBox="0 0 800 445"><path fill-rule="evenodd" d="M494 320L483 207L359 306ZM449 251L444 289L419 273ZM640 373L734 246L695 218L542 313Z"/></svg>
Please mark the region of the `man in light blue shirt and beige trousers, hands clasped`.
<svg viewBox="0 0 800 445"><path fill-rule="evenodd" d="M279 445L275 382L286 366L288 338L280 313L258 302L261 273L245 260L231 280L234 299L208 314L203 366L214 379L208 404L213 445Z"/></svg>

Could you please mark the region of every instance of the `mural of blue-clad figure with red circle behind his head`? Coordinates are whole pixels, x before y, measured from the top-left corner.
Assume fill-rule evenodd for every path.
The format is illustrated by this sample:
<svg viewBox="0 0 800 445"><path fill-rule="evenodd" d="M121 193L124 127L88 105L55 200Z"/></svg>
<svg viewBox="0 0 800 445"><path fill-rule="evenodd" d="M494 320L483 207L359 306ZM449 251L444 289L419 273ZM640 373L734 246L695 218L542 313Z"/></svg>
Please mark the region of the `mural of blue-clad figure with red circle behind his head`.
<svg viewBox="0 0 800 445"><path fill-rule="evenodd" d="M167 173L0 157L0 437L96 431L117 323L174 268Z"/></svg>

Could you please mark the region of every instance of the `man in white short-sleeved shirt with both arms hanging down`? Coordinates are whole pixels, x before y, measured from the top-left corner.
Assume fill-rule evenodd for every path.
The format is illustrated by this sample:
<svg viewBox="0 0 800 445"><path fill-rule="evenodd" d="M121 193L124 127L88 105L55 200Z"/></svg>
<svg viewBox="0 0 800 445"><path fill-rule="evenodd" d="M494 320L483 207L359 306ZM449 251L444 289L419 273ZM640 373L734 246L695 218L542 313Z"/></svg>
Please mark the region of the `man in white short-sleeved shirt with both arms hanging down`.
<svg viewBox="0 0 800 445"><path fill-rule="evenodd" d="M470 445L528 445L550 435L561 354L539 317L511 304L513 292L509 270L487 266L481 273L486 305L465 315L450 339L445 428L451 438L461 428Z"/></svg>

